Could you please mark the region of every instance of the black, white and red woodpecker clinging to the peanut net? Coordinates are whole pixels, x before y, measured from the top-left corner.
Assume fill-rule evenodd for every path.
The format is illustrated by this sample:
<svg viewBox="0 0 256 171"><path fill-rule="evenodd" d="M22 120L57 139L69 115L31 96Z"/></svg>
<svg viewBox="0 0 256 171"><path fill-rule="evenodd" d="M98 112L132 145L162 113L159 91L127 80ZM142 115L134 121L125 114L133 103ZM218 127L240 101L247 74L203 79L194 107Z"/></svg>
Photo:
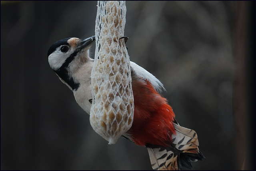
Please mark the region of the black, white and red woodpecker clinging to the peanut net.
<svg viewBox="0 0 256 171"><path fill-rule="evenodd" d="M122 38L128 40L126 36ZM90 80L94 63L89 54L94 40L95 36L84 40L66 38L55 42L48 50L50 67L73 91L76 102L88 114L92 103ZM163 84L134 62L130 62L130 66L134 120L122 136L148 149L154 170L192 169L191 161L205 158L198 149L196 132L178 124L172 107L161 95Z"/></svg>

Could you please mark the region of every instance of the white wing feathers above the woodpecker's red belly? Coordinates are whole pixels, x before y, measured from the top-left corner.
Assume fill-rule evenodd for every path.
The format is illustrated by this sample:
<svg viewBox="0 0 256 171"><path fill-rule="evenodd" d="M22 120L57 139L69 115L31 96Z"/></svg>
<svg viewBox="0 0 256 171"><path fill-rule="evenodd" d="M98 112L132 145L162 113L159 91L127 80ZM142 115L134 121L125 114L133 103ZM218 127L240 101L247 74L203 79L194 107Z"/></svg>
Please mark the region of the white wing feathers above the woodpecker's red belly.
<svg viewBox="0 0 256 171"><path fill-rule="evenodd" d="M153 85L153 87L156 89L156 91L158 93L162 93L162 89L164 91L166 91L166 89L164 88L164 85L155 76L153 76L150 72L148 72L141 66L138 66L136 63L134 63L132 61L130 62L130 64L131 64L131 68L134 70L136 75L148 80Z"/></svg>

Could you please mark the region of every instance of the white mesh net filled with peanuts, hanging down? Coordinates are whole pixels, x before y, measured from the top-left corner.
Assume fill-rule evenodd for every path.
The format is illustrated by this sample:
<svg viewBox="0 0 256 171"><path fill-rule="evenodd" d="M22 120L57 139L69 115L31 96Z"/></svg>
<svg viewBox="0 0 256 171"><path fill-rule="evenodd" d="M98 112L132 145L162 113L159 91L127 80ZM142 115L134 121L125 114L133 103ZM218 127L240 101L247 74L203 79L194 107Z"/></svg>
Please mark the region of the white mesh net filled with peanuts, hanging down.
<svg viewBox="0 0 256 171"><path fill-rule="evenodd" d="M130 60L124 39L125 1L98 1L92 68L90 123L114 144L132 126L134 99Z"/></svg>

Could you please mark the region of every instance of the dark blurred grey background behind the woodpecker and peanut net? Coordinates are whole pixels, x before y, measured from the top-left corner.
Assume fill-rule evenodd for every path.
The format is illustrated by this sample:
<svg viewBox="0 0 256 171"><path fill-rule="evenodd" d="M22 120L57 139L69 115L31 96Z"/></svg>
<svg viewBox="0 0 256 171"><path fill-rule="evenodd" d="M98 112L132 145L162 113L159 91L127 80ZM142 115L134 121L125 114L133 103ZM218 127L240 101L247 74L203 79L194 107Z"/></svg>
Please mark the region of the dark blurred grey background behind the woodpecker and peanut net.
<svg viewBox="0 0 256 171"><path fill-rule="evenodd" d="M48 64L57 40L94 35L96 4L1 1L1 170L152 170L145 147L94 132ZM255 2L126 8L130 60L164 84L180 125L198 134L206 159L194 169L255 169Z"/></svg>

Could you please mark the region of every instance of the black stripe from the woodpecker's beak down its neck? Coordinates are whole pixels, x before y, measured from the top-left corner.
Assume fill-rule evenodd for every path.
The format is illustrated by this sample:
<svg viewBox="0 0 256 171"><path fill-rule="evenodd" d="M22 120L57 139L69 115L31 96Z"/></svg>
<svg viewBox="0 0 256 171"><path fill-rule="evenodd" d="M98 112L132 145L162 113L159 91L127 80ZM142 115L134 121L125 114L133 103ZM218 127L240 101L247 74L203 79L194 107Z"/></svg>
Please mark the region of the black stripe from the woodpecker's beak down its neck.
<svg viewBox="0 0 256 171"><path fill-rule="evenodd" d="M74 53L72 53L64 62L64 64L58 69L58 70L54 70L54 72L56 72L56 74L64 81L66 82L71 88L72 90L77 90L78 87L80 86L79 83L75 83L74 79L72 77L70 77L68 75L68 65L74 60L75 56L78 54L78 51L75 51Z"/></svg>

